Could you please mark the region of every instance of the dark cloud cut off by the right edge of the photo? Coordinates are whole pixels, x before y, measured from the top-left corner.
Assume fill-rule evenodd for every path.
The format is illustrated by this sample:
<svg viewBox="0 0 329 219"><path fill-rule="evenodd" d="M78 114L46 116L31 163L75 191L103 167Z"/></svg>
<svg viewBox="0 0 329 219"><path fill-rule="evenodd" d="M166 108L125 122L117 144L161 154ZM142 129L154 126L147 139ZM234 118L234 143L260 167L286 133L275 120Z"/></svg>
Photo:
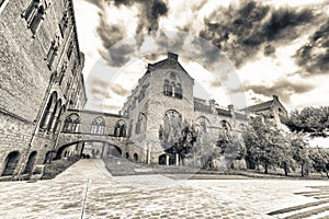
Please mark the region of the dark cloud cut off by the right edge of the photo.
<svg viewBox="0 0 329 219"><path fill-rule="evenodd" d="M326 21L300 47L296 55L296 62L303 68L302 74L329 73L329 20Z"/></svg>

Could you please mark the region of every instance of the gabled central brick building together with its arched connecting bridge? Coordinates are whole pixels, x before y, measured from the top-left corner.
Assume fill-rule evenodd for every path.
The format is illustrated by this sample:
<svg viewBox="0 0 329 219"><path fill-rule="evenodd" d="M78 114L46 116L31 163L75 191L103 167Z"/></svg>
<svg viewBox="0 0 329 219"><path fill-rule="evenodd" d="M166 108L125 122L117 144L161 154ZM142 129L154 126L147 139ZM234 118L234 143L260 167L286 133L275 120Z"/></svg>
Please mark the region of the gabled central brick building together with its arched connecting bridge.
<svg viewBox="0 0 329 219"><path fill-rule="evenodd" d="M243 112L232 105L194 97L194 79L178 55L148 65L118 114L68 110L57 143L58 158L68 154L123 157L132 161L178 164L181 158L169 152L179 143L182 129L194 127L195 147L215 148L220 132L239 136L247 124ZM201 165L202 155L196 158Z"/></svg>

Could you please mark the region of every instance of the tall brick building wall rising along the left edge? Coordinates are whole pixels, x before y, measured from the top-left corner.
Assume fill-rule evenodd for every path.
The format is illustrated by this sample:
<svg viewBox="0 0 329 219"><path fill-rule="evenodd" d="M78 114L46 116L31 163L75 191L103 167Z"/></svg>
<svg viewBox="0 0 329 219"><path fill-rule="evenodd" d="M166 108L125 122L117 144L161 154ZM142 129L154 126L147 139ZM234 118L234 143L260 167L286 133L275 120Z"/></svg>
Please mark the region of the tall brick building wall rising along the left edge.
<svg viewBox="0 0 329 219"><path fill-rule="evenodd" d="M67 108L87 101L72 0L0 1L0 176L52 160Z"/></svg>

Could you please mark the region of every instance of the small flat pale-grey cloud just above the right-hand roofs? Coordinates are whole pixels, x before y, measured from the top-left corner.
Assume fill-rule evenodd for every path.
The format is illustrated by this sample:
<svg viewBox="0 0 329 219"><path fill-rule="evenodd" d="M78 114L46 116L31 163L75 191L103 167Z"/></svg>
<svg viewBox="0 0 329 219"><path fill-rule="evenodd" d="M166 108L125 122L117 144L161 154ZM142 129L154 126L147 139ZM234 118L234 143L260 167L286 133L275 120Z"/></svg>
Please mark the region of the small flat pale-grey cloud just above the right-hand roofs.
<svg viewBox="0 0 329 219"><path fill-rule="evenodd" d="M284 103L291 102L291 95L303 94L311 91L315 88L314 84L303 82L303 81L291 81L287 79L280 79L275 81L272 85L257 84L257 85L246 85L246 91L252 91L256 94L262 94L264 96L271 97L273 94L280 96Z"/></svg>

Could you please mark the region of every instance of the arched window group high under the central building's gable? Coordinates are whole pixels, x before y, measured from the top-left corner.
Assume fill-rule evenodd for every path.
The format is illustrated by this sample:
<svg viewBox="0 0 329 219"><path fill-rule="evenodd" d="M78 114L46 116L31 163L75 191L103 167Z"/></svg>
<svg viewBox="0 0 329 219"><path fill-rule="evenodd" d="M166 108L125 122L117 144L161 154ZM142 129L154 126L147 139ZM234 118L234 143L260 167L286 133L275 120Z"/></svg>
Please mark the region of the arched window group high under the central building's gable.
<svg viewBox="0 0 329 219"><path fill-rule="evenodd" d="M183 97L182 83L175 72L169 72L163 83L163 94L175 99Z"/></svg>

